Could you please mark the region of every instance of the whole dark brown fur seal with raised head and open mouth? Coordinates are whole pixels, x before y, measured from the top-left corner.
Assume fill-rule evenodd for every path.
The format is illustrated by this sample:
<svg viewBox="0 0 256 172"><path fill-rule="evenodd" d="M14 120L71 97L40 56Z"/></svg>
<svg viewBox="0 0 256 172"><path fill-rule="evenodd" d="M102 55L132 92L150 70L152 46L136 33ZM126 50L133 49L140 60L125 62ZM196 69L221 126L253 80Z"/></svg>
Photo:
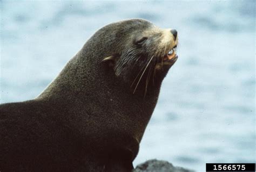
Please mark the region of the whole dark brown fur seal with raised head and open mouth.
<svg viewBox="0 0 256 172"><path fill-rule="evenodd" d="M1 171L131 171L177 31L100 28L35 99L0 106Z"/></svg>

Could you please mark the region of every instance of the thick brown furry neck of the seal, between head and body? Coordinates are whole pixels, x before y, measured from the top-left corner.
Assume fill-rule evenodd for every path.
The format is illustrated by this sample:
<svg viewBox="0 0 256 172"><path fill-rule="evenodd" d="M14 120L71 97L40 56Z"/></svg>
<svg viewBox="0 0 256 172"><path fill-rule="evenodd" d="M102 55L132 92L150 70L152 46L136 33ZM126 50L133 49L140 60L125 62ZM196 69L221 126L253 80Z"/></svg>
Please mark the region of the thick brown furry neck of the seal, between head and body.
<svg viewBox="0 0 256 172"><path fill-rule="evenodd" d="M129 84L105 68L93 51L83 48L36 100L55 104L57 111L65 109L66 113L59 115L72 120L73 127L86 125L75 125L74 119L93 118L100 124L102 116L107 116L109 125L118 126L120 131L131 133L140 141L156 106L159 89L160 85L147 91L146 97L139 90L133 94ZM106 123L102 121L102 125Z"/></svg>

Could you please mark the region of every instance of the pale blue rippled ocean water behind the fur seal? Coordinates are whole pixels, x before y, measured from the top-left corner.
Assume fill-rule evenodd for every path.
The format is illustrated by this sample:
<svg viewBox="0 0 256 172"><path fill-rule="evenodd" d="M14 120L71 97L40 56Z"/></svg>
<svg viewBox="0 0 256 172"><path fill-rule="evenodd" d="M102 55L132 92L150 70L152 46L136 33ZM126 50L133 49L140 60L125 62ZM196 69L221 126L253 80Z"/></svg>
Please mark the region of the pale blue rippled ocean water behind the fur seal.
<svg viewBox="0 0 256 172"><path fill-rule="evenodd" d="M98 28L144 18L176 28L166 76L134 164L205 171L255 162L254 1L0 1L0 103L36 97Z"/></svg>

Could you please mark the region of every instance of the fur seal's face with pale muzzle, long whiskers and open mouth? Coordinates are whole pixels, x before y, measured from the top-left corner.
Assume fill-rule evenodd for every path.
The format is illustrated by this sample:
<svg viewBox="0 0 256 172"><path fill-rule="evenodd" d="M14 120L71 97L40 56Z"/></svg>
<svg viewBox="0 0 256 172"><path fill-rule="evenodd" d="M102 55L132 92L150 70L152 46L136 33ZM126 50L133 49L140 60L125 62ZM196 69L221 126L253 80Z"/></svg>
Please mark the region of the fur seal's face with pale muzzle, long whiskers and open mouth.
<svg viewBox="0 0 256 172"><path fill-rule="evenodd" d="M133 93L143 79L145 92L155 80L159 84L178 58L177 31L162 30L146 20L126 21L114 37L120 38L117 39L120 49L103 61L110 63L117 77L133 86Z"/></svg>

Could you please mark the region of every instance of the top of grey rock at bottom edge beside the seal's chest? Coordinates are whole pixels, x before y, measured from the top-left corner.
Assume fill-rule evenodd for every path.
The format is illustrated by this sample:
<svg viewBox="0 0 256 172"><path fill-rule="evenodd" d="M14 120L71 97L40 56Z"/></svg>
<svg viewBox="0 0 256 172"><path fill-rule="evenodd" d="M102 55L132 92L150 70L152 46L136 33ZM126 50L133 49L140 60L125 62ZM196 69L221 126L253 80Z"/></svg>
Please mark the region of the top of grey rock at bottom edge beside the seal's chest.
<svg viewBox="0 0 256 172"><path fill-rule="evenodd" d="M174 167L168 161L149 160L138 164L133 172L193 172L182 167Z"/></svg>

